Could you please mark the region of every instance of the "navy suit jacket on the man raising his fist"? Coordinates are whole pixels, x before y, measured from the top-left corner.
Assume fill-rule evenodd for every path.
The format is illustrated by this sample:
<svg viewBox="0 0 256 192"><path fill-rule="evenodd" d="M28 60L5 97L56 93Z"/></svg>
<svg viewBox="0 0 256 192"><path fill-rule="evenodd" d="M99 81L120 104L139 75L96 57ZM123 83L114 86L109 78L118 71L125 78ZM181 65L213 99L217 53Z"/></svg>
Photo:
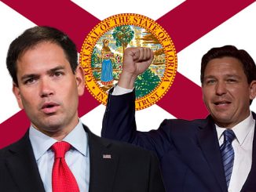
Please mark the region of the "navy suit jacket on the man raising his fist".
<svg viewBox="0 0 256 192"><path fill-rule="evenodd" d="M138 132L134 100L134 92L122 96L109 94L101 132L103 137L155 151L168 192L228 191L212 118L164 120L158 130ZM241 191L256 191L255 135L251 172Z"/></svg>

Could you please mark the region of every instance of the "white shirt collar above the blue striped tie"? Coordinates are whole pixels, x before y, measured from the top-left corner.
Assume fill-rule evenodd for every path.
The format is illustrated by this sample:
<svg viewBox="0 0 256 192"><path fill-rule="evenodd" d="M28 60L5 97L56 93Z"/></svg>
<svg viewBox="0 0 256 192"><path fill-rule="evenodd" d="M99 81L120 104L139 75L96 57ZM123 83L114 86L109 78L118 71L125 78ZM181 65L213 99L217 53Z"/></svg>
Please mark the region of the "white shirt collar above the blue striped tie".
<svg viewBox="0 0 256 192"><path fill-rule="evenodd" d="M218 134L218 139L223 139L222 133L226 130L225 128L221 128L218 125L216 125L216 130ZM251 131L251 129L254 129L254 118L252 114L250 113L249 117L241 121L239 124L232 127L233 132L236 135L236 139L240 145L243 144L244 140L247 138L248 133Z"/></svg>

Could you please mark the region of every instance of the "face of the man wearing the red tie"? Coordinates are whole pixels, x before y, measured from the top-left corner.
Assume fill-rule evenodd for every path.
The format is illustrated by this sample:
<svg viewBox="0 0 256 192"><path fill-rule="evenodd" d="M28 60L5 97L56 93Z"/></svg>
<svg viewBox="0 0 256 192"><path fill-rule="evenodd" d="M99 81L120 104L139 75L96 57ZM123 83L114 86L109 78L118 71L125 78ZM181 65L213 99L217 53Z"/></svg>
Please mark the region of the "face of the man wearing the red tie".
<svg viewBox="0 0 256 192"><path fill-rule="evenodd" d="M36 129L51 135L75 127L78 97L84 90L83 73L81 67L72 73L59 45L42 42L26 50L17 60L16 76L16 100Z"/></svg>

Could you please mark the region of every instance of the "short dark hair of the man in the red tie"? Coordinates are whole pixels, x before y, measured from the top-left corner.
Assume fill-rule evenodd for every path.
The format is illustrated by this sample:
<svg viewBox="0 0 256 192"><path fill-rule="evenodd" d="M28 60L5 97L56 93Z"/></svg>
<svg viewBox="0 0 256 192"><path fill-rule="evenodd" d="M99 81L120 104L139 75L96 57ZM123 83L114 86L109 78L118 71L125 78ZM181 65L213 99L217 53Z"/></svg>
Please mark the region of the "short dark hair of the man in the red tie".
<svg viewBox="0 0 256 192"><path fill-rule="evenodd" d="M18 86L16 77L17 66L16 62L27 49L31 49L41 42L53 42L64 50L67 60L71 65L71 70L75 74L75 69L78 66L78 55L75 43L71 41L64 32L47 26L31 27L20 34L19 37L13 40L9 45L9 50L6 58L6 65L9 74L13 78L13 82Z"/></svg>

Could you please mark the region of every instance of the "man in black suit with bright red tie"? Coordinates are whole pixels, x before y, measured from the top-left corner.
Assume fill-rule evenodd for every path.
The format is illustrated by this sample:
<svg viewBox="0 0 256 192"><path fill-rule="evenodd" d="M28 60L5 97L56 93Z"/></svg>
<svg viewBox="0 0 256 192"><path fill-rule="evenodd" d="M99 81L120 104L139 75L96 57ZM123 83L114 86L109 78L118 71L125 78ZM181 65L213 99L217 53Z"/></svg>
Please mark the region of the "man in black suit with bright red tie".
<svg viewBox="0 0 256 192"><path fill-rule="evenodd" d="M77 108L84 74L66 34L30 28L12 42L6 63L31 127L0 150L1 191L164 191L154 154L82 125Z"/></svg>

